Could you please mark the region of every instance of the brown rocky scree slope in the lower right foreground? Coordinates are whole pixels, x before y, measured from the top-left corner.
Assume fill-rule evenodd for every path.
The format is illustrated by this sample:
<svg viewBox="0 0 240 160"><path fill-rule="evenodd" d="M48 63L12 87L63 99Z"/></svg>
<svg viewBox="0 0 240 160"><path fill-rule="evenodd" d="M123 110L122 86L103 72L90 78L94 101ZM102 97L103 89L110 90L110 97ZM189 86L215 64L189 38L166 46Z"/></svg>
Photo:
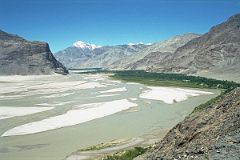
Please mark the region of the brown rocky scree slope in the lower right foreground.
<svg viewBox="0 0 240 160"><path fill-rule="evenodd" d="M136 160L239 160L240 88L196 111Z"/></svg>

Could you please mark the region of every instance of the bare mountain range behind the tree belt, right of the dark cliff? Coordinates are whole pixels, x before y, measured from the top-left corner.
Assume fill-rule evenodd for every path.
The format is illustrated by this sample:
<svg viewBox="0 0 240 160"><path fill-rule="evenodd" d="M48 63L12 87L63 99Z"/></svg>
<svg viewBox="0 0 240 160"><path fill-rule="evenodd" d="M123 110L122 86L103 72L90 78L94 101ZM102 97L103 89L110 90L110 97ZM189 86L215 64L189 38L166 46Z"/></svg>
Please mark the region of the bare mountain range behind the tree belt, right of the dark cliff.
<svg viewBox="0 0 240 160"><path fill-rule="evenodd" d="M55 55L68 68L144 69L240 81L240 14L203 35L188 33L151 45L71 46Z"/></svg>

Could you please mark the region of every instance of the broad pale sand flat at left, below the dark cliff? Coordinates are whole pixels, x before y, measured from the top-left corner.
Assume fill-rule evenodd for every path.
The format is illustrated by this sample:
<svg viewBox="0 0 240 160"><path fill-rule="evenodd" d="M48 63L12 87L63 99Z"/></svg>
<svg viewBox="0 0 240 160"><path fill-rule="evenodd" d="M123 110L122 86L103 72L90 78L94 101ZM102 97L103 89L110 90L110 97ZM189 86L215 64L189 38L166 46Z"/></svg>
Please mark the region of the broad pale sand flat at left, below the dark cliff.
<svg viewBox="0 0 240 160"><path fill-rule="evenodd" d="M10 76L10 80L15 76ZM50 78L50 77L49 77ZM54 78L54 77L51 77ZM24 96L30 96L35 94L59 94L61 92L93 89L106 87L105 85L98 82L86 82L86 81L63 81L57 82L54 80L46 80L42 82L29 81L27 83L15 83L8 81L8 83L2 83L0 85L0 98L1 99L16 99ZM8 85L11 83L11 85ZM53 95L54 96L54 95ZM61 95L56 95L60 96ZM64 95L63 95L64 96ZM51 98L51 97L50 97Z"/></svg>

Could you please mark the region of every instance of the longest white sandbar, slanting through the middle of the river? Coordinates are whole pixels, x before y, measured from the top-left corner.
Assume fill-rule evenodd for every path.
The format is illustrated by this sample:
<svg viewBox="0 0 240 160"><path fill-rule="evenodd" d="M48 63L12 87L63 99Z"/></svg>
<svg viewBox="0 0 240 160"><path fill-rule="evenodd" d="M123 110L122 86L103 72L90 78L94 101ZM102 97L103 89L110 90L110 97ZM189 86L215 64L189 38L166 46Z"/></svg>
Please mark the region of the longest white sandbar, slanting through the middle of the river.
<svg viewBox="0 0 240 160"><path fill-rule="evenodd" d="M72 110L69 110L65 114L12 128L2 134L2 137L33 134L57 128L73 126L97 118L105 117L123 110L127 110L135 106L137 106L136 103L129 102L127 99L83 104L75 107Z"/></svg>

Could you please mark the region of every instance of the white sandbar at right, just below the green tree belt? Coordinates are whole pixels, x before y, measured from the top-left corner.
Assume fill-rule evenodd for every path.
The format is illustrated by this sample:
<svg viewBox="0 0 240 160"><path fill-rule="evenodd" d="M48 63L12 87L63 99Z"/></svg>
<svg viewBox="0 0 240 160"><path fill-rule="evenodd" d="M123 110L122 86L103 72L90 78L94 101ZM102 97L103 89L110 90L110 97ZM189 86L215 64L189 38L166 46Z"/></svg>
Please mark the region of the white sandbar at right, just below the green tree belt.
<svg viewBox="0 0 240 160"><path fill-rule="evenodd" d="M148 88L149 90L145 90L142 94L140 94L140 98L161 100L168 104L184 101L194 96L213 94L211 92L206 91L172 87L148 87Z"/></svg>

